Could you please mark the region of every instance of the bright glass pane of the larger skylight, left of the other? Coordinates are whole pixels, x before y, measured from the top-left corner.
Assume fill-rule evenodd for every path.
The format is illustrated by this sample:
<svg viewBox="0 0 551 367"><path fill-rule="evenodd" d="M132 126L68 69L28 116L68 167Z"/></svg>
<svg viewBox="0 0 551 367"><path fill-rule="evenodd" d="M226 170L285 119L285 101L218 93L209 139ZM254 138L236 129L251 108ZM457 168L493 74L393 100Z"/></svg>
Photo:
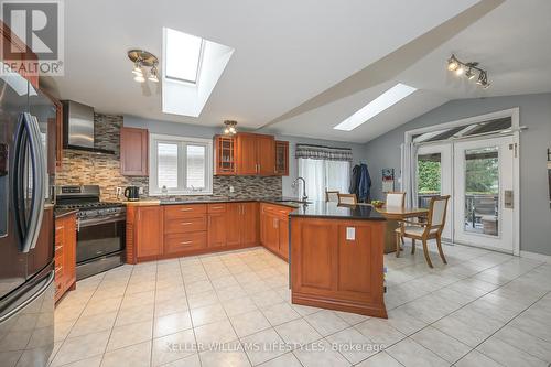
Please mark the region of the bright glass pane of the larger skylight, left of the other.
<svg viewBox="0 0 551 367"><path fill-rule="evenodd" d="M197 83L203 39L170 28L164 31L166 77Z"/></svg>

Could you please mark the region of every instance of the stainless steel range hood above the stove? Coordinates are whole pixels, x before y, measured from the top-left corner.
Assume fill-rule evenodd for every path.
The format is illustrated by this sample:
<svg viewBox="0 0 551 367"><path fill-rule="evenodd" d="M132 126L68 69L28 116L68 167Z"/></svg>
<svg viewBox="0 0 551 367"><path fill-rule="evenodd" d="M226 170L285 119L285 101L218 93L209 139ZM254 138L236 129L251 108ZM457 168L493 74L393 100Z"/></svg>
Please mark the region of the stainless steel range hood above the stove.
<svg viewBox="0 0 551 367"><path fill-rule="evenodd" d="M94 108L73 100L63 102L63 148L114 154L94 141Z"/></svg>

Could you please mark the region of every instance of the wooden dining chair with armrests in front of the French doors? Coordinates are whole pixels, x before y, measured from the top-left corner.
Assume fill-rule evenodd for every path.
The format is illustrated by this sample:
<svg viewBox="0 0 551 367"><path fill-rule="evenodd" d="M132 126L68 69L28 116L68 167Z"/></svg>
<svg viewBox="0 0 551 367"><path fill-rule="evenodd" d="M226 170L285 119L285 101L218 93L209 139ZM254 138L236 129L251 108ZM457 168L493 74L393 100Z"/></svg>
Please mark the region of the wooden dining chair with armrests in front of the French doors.
<svg viewBox="0 0 551 367"><path fill-rule="evenodd" d="M446 222L446 211L447 211L447 202L450 199L450 195L446 196L434 196L431 198L429 204L429 214L426 222L411 222L411 220L401 220L402 226L397 230L400 230L402 237L411 238L411 253L415 253L415 240L419 239L423 242L423 252L424 258L426 259L426 263L429 267L433 268L431 258L429 256L429 248L426 246L426 241L429 239L436 239L436 246L439 248L440 257L444 263L447 263L446 258L444 256L444 251L442 251L442 230L444 229L444 225ZM397 241L396 245L396 256L398 257L400 253L400 244Z"/></svg>

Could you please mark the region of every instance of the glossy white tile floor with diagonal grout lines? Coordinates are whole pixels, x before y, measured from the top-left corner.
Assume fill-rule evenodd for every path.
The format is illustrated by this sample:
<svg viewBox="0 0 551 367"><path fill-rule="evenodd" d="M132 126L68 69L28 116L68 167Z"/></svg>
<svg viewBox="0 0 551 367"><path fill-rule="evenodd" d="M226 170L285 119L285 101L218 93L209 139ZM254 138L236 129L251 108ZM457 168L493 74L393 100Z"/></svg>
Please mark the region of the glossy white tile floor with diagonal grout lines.
<svg viewBox="0 0 551 367"><path fill-rule="evenodd" d="M548 366L551 265L444 250L386 256L388 320L291 304L262 248L123 266L58 304L51 366Z"/></svg>

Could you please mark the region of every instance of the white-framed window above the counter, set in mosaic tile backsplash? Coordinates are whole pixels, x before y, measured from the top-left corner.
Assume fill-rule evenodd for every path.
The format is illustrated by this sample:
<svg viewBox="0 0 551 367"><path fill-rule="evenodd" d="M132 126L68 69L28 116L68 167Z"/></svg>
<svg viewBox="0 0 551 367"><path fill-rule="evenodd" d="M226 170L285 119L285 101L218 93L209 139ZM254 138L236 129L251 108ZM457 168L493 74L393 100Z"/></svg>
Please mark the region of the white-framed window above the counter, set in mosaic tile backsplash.
<svg viewBox="0 0 551 367"><path fill-rule="evenodd" d="M213 194L213 142L209 139L151 136L151 195Z"/></svg>

